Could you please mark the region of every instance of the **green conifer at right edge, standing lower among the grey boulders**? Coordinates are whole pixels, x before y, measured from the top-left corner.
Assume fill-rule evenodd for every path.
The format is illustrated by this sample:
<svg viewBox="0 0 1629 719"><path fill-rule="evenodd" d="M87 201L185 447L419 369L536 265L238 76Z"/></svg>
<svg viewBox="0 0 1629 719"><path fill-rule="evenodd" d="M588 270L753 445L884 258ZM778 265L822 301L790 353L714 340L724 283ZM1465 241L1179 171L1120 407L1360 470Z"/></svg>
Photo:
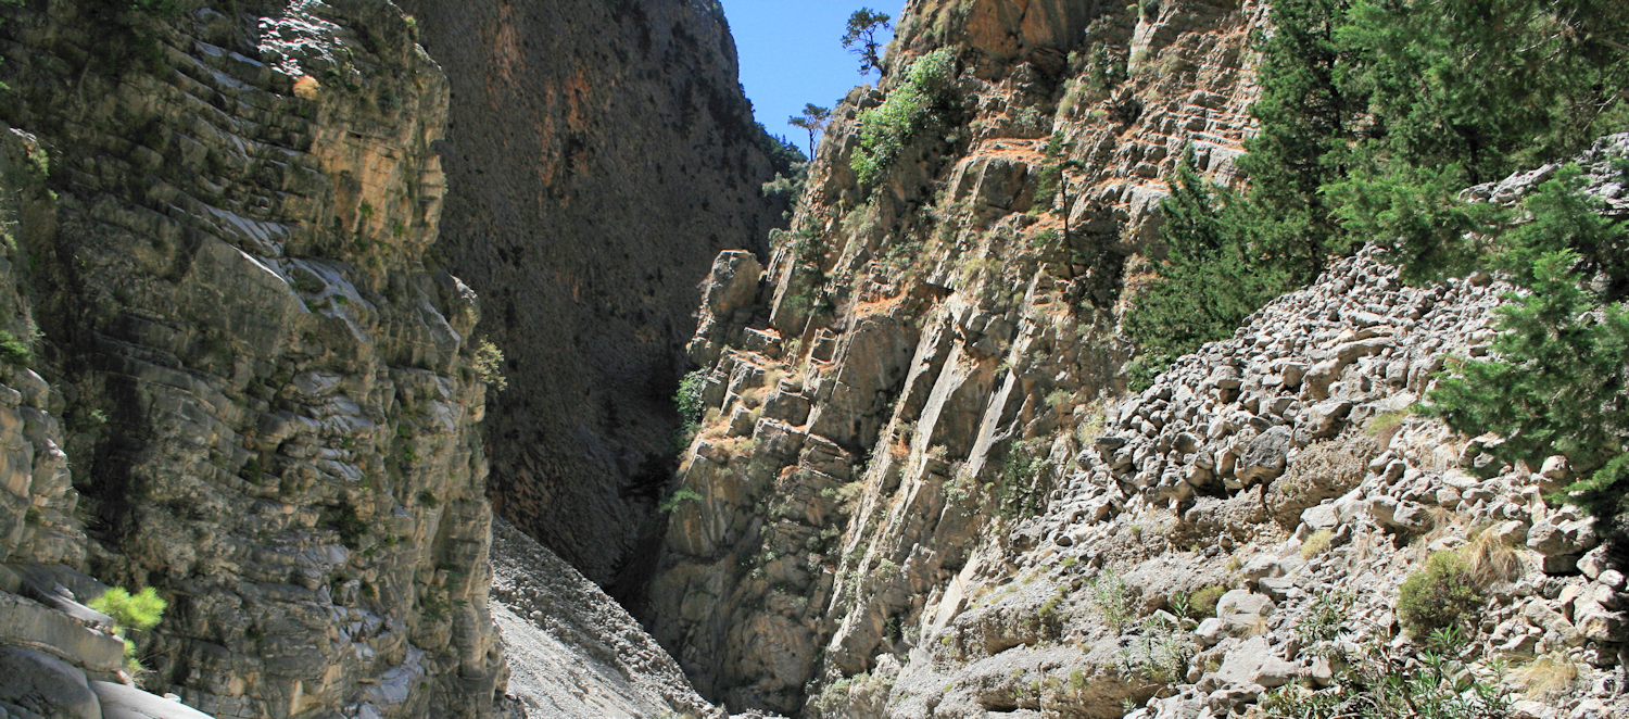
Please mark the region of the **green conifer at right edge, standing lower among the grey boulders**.
<svg viewBox="0 0 1629 719"><path fill-rule="evenodd" d="M1579 183L1562 170L1523 204L1530 222L1491 240L1489 262L1530 292L1497 310L1492 359L1451 362L1427 409L1458 430L1505 437L1494 453L1507 461L1567 455L1583 478L1567 501L1608 518L1629 512L1629 311L1611 302L1629 280L1629 232Z"/></svg>

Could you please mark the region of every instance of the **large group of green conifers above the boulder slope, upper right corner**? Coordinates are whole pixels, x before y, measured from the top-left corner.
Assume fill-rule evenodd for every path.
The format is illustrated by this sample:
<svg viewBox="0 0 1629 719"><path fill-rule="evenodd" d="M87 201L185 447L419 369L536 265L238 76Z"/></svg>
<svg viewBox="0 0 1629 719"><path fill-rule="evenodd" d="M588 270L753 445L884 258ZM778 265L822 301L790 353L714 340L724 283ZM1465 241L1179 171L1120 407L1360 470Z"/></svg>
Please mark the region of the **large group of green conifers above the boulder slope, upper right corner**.
<svg viewBox="0 0 1629 719"><path fill-rule="evenodd" d="M1464 186L1629 126L1629 46L1613 39L1624 3L1282 0L1272 24L1256 37L1259 132L1238 161L1249 194L1205 189L1184 161L1165 205L1171 259L1127 318L1144 352L1220 339L1365 241L1412 280L1463 272L1507 222L1463 202ZM1574 209L1551 207L1583 217ZM1598 227L1533 227L1564 235L1580 272L1622 271L1621 243L1590 240Z"/></svg>

